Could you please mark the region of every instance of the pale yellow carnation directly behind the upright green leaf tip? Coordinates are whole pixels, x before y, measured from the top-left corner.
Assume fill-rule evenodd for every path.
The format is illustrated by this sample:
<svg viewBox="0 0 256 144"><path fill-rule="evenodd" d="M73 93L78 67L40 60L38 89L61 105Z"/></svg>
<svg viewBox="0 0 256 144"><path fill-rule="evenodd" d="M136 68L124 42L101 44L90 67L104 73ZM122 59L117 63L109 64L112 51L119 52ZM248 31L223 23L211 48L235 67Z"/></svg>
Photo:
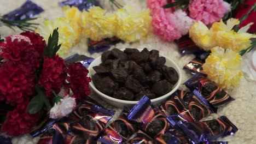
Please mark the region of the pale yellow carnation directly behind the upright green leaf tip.
<svg viewBox="0 0 256 144"><path fill-rule="evenodd" d="M66 17L58 17L55 20L46 20L36 29L36 32L42 35L47 41L55 28L59 27L60 50L57 52L60 56L65 56L69 48L77 44L80 40L81 27L75 22L69 22Z"/></svg>

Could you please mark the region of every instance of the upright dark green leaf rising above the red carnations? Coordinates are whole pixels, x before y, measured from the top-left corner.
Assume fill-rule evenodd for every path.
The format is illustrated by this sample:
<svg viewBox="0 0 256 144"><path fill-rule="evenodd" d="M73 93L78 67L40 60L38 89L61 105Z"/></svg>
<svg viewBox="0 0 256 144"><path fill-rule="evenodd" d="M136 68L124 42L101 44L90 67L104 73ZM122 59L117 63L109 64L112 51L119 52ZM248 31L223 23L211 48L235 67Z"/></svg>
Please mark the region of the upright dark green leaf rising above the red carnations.
<svg viewBox="0 0 256 144"><path fill-rule="evenodd" d="M53 34L50 34L50 37L48 38L48 44L44 48L44 56L47 57L54 57L57 53L57 51L60 49L61 44L58 45L59 41L59 28L54 29Z"/></svg>

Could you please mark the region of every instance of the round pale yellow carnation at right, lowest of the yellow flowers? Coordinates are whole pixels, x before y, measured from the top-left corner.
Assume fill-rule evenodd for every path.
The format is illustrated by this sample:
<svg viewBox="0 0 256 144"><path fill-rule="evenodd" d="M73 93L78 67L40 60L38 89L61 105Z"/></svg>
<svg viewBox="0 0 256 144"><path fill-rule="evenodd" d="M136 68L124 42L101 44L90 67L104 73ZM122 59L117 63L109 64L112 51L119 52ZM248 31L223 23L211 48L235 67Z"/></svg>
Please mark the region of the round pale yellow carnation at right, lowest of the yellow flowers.
<svg viewBox="0 0 256 144"><path fill-rule="evenodd" d="M203 71L223 88L237 86L243 76L239 53L219 46L213 47L211 51L211 55L203 64Z"/></svg>

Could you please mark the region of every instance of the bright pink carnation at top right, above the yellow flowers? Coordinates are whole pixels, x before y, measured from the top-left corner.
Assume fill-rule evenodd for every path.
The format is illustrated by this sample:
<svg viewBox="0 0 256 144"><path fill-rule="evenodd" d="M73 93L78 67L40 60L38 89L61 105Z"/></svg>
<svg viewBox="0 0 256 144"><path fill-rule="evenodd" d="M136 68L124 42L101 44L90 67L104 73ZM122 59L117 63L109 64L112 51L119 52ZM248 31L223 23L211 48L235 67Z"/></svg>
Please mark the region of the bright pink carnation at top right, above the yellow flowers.
<svg viewBox="0 0 256 144"><path fill-rule="evenodd" d="M230 10L230 4L223 0L192 0L189 4L189 16L205 25L219 21Z"/></svg>

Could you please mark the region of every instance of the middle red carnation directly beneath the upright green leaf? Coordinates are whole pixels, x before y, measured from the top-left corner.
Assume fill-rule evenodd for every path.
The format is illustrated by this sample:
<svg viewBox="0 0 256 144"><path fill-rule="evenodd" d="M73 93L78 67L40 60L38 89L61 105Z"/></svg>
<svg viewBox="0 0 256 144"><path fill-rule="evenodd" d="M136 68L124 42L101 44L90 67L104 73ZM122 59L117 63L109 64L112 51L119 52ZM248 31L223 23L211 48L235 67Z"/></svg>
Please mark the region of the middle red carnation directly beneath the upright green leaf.
<svg viewBox="0 0 256 144"><path fill-rule="evenodd" d="M64 85L67 75L65 61L55 55L53 58L44 57L42 74L40 75L39 84L44 87L46 95L51 97L52 90L60 92Z"/></svg>

